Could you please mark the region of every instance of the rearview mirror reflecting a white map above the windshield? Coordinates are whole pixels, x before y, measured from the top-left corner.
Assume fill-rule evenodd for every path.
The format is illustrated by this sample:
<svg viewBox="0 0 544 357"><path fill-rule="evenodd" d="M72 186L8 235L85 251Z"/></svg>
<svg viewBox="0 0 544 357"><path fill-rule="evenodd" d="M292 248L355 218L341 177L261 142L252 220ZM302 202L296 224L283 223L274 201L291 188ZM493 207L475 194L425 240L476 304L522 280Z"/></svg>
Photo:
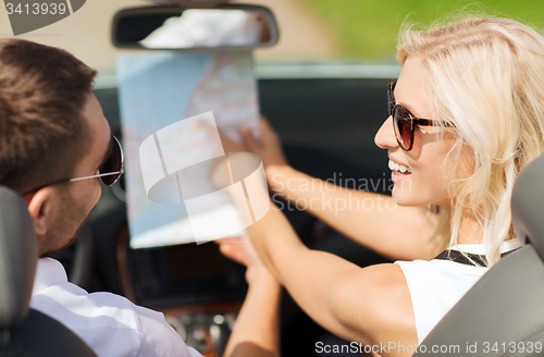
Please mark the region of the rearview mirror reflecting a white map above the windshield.
<svg viewBox="0 0 544 357"><path fill-rule="evenodd" d="M257 5L133 8L118 12L112 26L112 41L118 48L242 50L270 47L277 39L274 15L269 9Z"/></svg>

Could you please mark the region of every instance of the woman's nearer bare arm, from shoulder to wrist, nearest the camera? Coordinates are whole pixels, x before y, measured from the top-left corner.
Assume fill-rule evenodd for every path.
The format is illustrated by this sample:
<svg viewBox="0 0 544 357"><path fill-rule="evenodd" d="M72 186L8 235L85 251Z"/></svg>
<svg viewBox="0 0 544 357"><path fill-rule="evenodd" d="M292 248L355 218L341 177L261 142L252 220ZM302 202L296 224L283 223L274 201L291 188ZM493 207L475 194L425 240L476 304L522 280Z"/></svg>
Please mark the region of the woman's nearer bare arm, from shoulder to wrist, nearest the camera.
<svg viewBox="0 0 544 357"><path fill-rule="evenodd" d="M326 330L370 345L417 344L410 295L398 266L361 269L310 250L273 208L247 232L269 270Z"/></svg>

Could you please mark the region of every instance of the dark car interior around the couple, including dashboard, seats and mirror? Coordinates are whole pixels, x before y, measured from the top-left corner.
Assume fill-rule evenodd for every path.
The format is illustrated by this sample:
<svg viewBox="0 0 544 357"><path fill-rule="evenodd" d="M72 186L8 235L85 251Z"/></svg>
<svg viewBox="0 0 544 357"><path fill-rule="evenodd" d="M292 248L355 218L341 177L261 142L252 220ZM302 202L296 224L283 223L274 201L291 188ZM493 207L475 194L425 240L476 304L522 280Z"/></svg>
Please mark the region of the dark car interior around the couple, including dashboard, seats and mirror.
<svg viewBox="0 0 544 357"><path fill-rule="evenodd" d="M259 14L265 28L262 36L237 45L144 46L143 39L166 19L190 10L190 1L180 2L120 11L112 22L112 44L138 52L197 54L250 51L274 46L281 36L269 9L213 1L213 10ZM259 111L282 138L290 165L322 180L334 178L341 186L360 177L383 182L362 189L391 194L385 184L387 153L373 138L386 118L385 88L398 75L398 66L382 65L378 71L369 65L361 74L349 76L341 70L316 75L311 64L265 70L257 77ZM293 76L293 72L307 75ZM118 85L99 83L94 94L113 135L123 140ZM541 157L520 174L512 195L514 225L526 245L493 267L438 323L422 344L429 350L433 345L458 345L460 353L454 348L450 354L463 355L473 344L491 343L485 356L505 356L503 347L492 349L493 343L544 342L543 174ZM222 256L213 243L132 247L127 186L124 176L111 187L102 186L102 196L75 244L53 257L63 263L71 282L89 293L111 292L162 311L187 345L205 356L221 356L247 291L245 268ZM360 267L387 261L304 211L285 205L283 212L310 248L336 254ZM34 241L26 207L16 194L0 187L0 356L44 356L36 352L46 350L46 344L58 348L47 349L51 356L94 356L67 329L28 308L37 257ZM309 319L286 292L281 340L284 356L314 356L317 341L341 341ZM517 353L515 356L536 355Z"/></svg>

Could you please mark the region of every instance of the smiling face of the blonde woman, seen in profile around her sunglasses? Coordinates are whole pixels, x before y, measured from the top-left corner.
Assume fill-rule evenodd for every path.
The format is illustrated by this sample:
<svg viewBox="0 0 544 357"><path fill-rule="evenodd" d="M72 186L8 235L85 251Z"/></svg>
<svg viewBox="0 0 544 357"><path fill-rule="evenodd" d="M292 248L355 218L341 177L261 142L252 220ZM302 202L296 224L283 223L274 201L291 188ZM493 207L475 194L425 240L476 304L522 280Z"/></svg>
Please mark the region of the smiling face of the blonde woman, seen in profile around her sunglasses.
<svg viewBox="0 0 544 357"><path fill-rule="evenodd" d="M429 100L420 78L420 62L418 58L409 58L395 86L395 100L408 109L417 118L432 119ZM437 134L444 131L438 138ZM449 206L447 186L450 183L444 173L448 171L443 163L446 155L455 144L455 138L448 130L437 126L416 127L413 148L404 151L395 138L393 118L390 116L378 131L375 144L387 149L390 168L392 169L393 198L400 206L438 205L446 210ZM396 164L404 168L395 170ZM444 170L446 168L446 170Z"/></svg>

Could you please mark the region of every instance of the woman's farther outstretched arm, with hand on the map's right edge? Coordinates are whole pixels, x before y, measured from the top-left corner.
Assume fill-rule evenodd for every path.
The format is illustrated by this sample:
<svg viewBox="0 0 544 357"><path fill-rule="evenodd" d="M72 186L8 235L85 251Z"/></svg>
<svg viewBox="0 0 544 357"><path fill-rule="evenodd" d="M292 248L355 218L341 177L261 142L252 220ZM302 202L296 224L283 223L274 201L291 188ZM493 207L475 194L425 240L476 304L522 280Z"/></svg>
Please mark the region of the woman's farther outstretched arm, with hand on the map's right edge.
<svg viewBox="0 0 544 357"><path fill-rule="evenodd" d="M250 131L240 134L247 149L261 157L274 201L283 198L298 204L344 235L392 259L431 259L443 250L440 242L429 239L436 218L425 218L419 208L397 206L390 196L341 188L298 172L287 164L280 138L264 119L260 131L259 141ZM243 150L227 139L223 141L225 149Z"/></svg>

